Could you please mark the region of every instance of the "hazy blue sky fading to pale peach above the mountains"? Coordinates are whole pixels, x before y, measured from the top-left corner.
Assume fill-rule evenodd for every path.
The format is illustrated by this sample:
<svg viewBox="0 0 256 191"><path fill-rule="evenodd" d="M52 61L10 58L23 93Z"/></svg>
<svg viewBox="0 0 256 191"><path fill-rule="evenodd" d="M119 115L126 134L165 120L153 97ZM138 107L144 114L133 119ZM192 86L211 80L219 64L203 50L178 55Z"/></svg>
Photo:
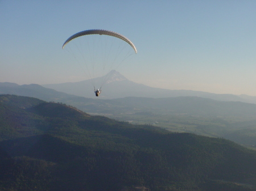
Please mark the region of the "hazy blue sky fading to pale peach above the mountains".
<svg viewBox="0 0 256 191"><path fill-rule="evenodd" d="M0 82L77 82L61 49L86 29L128 37L138 54L118 70L172 90L256 96L256 1L0 0Z"/></svg>

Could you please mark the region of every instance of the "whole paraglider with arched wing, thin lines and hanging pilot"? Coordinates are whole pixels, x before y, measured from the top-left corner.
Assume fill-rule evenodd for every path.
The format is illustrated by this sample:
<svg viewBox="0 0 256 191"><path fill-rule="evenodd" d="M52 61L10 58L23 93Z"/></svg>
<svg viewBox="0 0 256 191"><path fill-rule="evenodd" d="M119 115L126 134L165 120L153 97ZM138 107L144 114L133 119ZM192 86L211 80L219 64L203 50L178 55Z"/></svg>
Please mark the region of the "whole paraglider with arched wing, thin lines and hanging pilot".
<svg viewBox="0 0 256 191"><path fill-rule="evenodd" d="M117 32L113 32L113 31L107 31L107 30L103 30L103 29L89 29L89 30L86 30L86 31L81 31L81 32L78 32L78 33L75 33L75 35L72 35L71 37L69 37L66 41L65 41L65 43L63 44L63 46L62 46L62 49L64 49L64 47L70 42L70 41L72 41L72 40L74 40L74 39L76 39L77 37L81 37L81 36L86 36L86 35L106 35L106 36L111 36L111 37L115 37L115 38L117 38L117 39L121 39L122 41L125 41L125 43L126 44L129 44L130 46L131 46L131 48L133 48L133 50L134 50L134 52L135 52L135 54L137 54L137 49L136 49L136 47L135 47L135 45L129 40L129 39L127 39L127 37L125 37L125 36L123 36L123 35L121 35L121 34L119 34L119 33L117 33ZM97 43L98 41L96 41L96 40L93 40L93 43L95 44L95 42ZM80 43L81 44L81 43ZM84 44L86 44L86 43L84 43ZM89 54L90 53L90 55L89 56L87 56L86 55L86 57L85 56L82 56L82 60L84 61L84 62L86 62L86 64L87 65L89 65L89 58L97 58L97 57L99 57L99 56L95 56L94 54L95 54L95 52L97 52L97 51L101 51L101 49L103 49L103 48L105 48L105 46L106 45L108 45L108 44L110 44L109 45L109 47L108 48L105 48L106 50L104 50L104 52L102 52L101 54L103 54L103 56L102 57L104 57L104 59L105 60L101 60L101 61L90 61L90 62L92 62L92 67L91 67L91 69L89 69L89 66L86 66L86 71L88 72L88 76L89 76L89 78L90 79L92 79L93 77L94 77L94 70L96 70L96 66L94 66L94 65L100 65L100 63L98 63L98 62L102 62L102 70L103 71L105 71L106 70L106 67L108 66L108 63L109 63L109 67L110 67L110 69L109 70L112 70L113 68L112 67L114 67L114 62L117 62L117 66L116 67L118 67L119 65L120 65L120 63L121 62L123 62L123 60L125 60L127 57L129 57L129 53L126 53L125 54L125 56L124 56L124 58L122 58L121 59L121 61L116 61L117 60L117 58L119 58L120 56L119 56L119 54L121 54L121 52L123 52L123 48L119 48L119 45L118 45L118 47L117 47L117 50L115 50L115 57L113 58L113 60L112 61L110 61L110 56L109 56L109 54L112 52L111 50L112 49L114 49L113 48L113 45L112 45L112 43L102 43L101 41L100 41L100 43L98 43L98 44L100 44L100 45L97 45L97 50L95 50L96 48L94 48L94 46L96 46L96 45L90 45L90 44L88 44L87 46L88 46L88 50L87 51L84 51L84 50L79 50L78 52L79 53L83 53L83 52L87 52L87 54ZM92 47L91 47L92 46ZM98 48L98 46L100 46L100 48ZM77 47L77 46L76 46ZM130 50L129 50L130 51ZM73 53L73 51L72 51L72 53ZM106 55L106 54L108 54L108 55ZM76 60L77 60L77 58L76 58ZM119 63L120 62L120 63ZM92 70L92 71L90 71L90 70ZM96 70L97 71L97 70ZM108 77L105 77L105 79L103 80L103 82L101 83L101 87L103 86L103 84L104 83L106 83L106 81L107 81L107 79L108 79ZM93 82L92 82L93 83ZM94 86L94 83L93 83L93 86ZM94 86L94 93L96 94L96 96L98 97L100 94L101 94L101 87L100 87L100 89L97 89L97 90L95 90L95 86Z"/></svg>

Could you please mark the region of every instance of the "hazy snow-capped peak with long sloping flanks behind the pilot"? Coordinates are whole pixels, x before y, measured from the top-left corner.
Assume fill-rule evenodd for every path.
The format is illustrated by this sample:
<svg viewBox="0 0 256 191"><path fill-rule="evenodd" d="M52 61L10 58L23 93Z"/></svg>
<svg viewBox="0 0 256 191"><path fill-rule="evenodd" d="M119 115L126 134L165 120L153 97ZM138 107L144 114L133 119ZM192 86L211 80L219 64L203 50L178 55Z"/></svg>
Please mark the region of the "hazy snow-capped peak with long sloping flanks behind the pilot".
<svg viewBox="0 0 256 191"><path fill-rule="evenodd" d="M232 94L212 94L203 91L192 90L167 90L162 88L154 88L143 84L132 82L115 70L110 71L104 77L92 80L84 80L81 82L68 82L60 84L44 84L43 87L52 88L53 90L65 92L76 96L95 98L93 93L92 81L96 84L108 79L102 88L100 99L115 99L121 97L179 97L179 96L197 96L219 101L242 101L245 103L256 103L255 96L232 95ZM99 88L99 87L96 87Z"/></svg>

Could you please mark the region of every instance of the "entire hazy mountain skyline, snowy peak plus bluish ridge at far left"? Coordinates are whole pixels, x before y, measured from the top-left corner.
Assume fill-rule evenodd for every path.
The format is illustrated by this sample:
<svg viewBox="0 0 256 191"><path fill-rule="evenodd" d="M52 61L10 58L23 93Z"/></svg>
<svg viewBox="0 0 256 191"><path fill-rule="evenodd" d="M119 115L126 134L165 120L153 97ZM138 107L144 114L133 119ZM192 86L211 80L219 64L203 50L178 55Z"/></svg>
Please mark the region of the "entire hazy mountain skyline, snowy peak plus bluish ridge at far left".
<svg viewBox="0 0 256 191"><path fill-rule="evenodd" d="M213 94L203 91L192 90L167 90L154 88L143 84L132 82L115 70L107 74L108 80L102 88L102 94L98 99L116 99L122 97L179 97L196 96L209 98L218 101L241 101L244 103L256 104L256 96L232 95L232 94ZM94 82L101 82L106 76L93 79ZM46 101L58 101L69 97L96 98L91 80L81 82L67 82L60 84L24 84L19 86L15 83L0 83L0 94L14 94L22 96L37 97Z"/></svg>

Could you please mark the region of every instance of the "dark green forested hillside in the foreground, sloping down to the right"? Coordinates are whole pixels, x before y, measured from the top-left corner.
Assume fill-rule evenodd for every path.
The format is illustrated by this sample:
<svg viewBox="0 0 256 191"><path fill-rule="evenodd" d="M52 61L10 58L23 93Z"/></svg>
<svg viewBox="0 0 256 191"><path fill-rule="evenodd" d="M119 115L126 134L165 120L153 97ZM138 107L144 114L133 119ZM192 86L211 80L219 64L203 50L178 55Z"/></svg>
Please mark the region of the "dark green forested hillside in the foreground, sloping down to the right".
<svg viewBox="0 0 256 191"><path fill-rule="evenodd" d="M0 95L0 190L256 190L256 153Z"/></svg>

